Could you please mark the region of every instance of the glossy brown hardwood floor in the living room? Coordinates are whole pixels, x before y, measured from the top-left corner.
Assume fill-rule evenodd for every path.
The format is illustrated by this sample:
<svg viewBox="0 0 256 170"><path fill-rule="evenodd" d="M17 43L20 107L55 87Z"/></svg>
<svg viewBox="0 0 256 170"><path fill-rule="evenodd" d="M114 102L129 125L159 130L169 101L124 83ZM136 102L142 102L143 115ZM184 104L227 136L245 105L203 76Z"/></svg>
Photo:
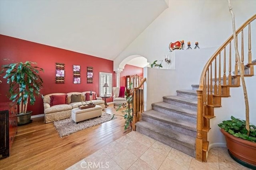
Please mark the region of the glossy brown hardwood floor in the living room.
<svg viewBox="0 0 256 170"><path fill-rule="evenodd" d="M112 104L105 112L122 114ZM124 131L124 119L117 116L60 138L53 123L44 124L44 117L34 118L32 123L18 127L10 156L0 159L0 169L63 170L130 131Z"/></svg>

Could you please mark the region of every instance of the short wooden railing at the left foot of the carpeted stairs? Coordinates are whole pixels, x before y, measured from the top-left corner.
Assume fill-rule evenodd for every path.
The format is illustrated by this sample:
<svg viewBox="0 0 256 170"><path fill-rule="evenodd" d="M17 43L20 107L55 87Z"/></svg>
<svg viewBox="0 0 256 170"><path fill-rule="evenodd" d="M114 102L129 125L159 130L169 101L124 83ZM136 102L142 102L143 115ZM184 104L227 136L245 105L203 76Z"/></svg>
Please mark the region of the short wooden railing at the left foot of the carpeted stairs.
<svg viewBox="0 0 256 170"><path fill-rule="evenodd" d="M141 113L144 112L144 97L143 97L143 84L146 82L144 78L138 87L133 88L133 119L132 119L132 130L136 131L135 123L140 121Z"/></svg>

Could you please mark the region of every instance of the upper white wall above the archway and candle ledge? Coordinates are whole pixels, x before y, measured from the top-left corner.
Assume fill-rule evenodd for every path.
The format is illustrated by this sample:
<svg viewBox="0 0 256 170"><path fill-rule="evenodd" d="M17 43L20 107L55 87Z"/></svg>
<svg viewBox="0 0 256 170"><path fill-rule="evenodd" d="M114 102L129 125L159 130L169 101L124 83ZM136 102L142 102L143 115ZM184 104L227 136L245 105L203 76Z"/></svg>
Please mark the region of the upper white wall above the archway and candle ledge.
<svg viewBox="0 0 256 170"><path fill-rule="evenodd" d="M237 27L256 12L255 0L232 0L231 3ZM192 48L195 41L200 48L219 47L232 34L231 28L226 0L170 0L169 8L114 59L114 71L131 55L143 56L150 63L164 59L170 42L177 40L184 39L185 45L191 41Z"/></svg>

